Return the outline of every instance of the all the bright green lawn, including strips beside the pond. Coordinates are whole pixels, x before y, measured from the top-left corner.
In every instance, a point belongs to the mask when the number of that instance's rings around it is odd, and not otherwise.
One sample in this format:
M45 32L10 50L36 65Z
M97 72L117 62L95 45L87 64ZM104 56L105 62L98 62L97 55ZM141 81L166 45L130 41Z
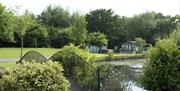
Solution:
M46 57L52 56L54 53L58 52L60 49L55 48L24 48L23 54L30 50L35 50L42 53ZM20 56L20 48L0 48L0 59L18 59ZM103 59L108 57L108 54L97 54L92 53L96 59ZM127 57L140 54L113 54L113 57ZM0 62L0 67L9 67L15 65L15 62Z

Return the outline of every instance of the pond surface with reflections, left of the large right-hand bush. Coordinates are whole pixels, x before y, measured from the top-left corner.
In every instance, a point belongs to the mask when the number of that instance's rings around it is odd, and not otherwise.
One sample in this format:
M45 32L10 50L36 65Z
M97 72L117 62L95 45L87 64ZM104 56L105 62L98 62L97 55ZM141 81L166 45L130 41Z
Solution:
M101 83L101 91L146 91L135 84L135 77L141 73L144 60L136 61L136 63L126 62L126 64L117 62L105 63L113 63L116 65L115 68L111 69L108 75L104 77ZM102 64L104 63L100 63L99 65Z

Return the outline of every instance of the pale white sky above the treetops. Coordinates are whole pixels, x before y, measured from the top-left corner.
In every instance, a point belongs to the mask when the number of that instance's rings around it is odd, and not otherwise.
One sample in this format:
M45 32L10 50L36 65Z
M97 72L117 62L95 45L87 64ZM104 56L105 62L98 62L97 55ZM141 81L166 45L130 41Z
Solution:
M48 5L60 5L70 12L79 11L86 14L91 10L105 8L112 9L120 16L133 16L140 13L155 11L164 15L180 15L180 0L0 0L7 8L21 6L35 15Z

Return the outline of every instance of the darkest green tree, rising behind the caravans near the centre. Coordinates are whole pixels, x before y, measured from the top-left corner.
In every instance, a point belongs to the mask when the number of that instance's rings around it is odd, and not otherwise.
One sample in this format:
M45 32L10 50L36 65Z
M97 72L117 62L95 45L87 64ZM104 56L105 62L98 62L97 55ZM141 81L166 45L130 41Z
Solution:
M101 32L109 39L109 48L125 40L123 19L115 15L111 9L97 9L86 14L87 30L89 32Z

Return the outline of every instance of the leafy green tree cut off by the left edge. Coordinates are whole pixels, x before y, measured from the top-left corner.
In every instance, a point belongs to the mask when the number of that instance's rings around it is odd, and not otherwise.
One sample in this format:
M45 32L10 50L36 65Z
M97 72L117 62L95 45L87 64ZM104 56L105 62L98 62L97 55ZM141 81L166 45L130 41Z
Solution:
M0 3L0 43L13 41L13 13Z

